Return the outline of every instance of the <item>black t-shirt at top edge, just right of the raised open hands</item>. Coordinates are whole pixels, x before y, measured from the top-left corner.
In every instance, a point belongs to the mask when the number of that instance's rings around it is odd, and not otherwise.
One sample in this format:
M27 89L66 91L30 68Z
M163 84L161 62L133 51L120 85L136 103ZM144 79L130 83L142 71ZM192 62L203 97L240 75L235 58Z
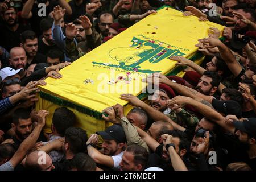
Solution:
M75 20L76 18L79 18L79 16L85 15L86 13L85 6L86 6L86 3L88 3L89 1L84 0L81 5L77 5L75 2L76 2L75 0L68 2L69 6L72 9L72 14L71 15L65 14L65 23L73 22L73 20Z

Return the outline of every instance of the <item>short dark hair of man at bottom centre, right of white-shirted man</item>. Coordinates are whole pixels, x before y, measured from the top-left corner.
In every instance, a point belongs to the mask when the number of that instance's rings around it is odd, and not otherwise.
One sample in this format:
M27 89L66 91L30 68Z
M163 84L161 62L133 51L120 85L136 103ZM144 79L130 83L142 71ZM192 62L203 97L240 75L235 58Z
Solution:
M134 155L134 164L142 165L142 170L145 168L148 160L148 152L146 148L139 146L137 144L131 144L126 148L127 152L131 152Z

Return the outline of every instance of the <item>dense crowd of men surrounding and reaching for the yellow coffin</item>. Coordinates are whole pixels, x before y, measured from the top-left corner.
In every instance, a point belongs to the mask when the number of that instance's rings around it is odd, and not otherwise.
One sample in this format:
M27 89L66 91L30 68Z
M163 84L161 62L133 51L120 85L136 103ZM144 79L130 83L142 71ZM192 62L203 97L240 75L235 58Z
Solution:
M88 135L60 106L44 133L36 85L164 5L225 26L195 45L203 63L172 56L184 77L149 75L149 104L121 94L134 107L104 109L105 131ZM255 171L255 10L256 0L1 0L0 171Z

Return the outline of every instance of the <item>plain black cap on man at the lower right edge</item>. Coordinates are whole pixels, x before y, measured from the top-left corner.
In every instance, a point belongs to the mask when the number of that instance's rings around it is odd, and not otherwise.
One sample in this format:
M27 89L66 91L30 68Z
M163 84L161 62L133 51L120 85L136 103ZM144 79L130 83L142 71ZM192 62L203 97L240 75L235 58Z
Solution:
M256 139L256 118L247 118L244 121L233 121L236 129L243 131Z

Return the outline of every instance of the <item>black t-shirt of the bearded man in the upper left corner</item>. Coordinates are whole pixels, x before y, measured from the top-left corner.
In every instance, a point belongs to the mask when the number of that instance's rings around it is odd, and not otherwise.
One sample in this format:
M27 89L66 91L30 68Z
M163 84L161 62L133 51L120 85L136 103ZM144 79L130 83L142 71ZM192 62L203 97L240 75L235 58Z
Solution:
M23 24L19 24L16 31L11 31L7 26L0 25L0 45L4 47L8 52L13 47L20 46L20 34L22 32L30 30L30 27Z

